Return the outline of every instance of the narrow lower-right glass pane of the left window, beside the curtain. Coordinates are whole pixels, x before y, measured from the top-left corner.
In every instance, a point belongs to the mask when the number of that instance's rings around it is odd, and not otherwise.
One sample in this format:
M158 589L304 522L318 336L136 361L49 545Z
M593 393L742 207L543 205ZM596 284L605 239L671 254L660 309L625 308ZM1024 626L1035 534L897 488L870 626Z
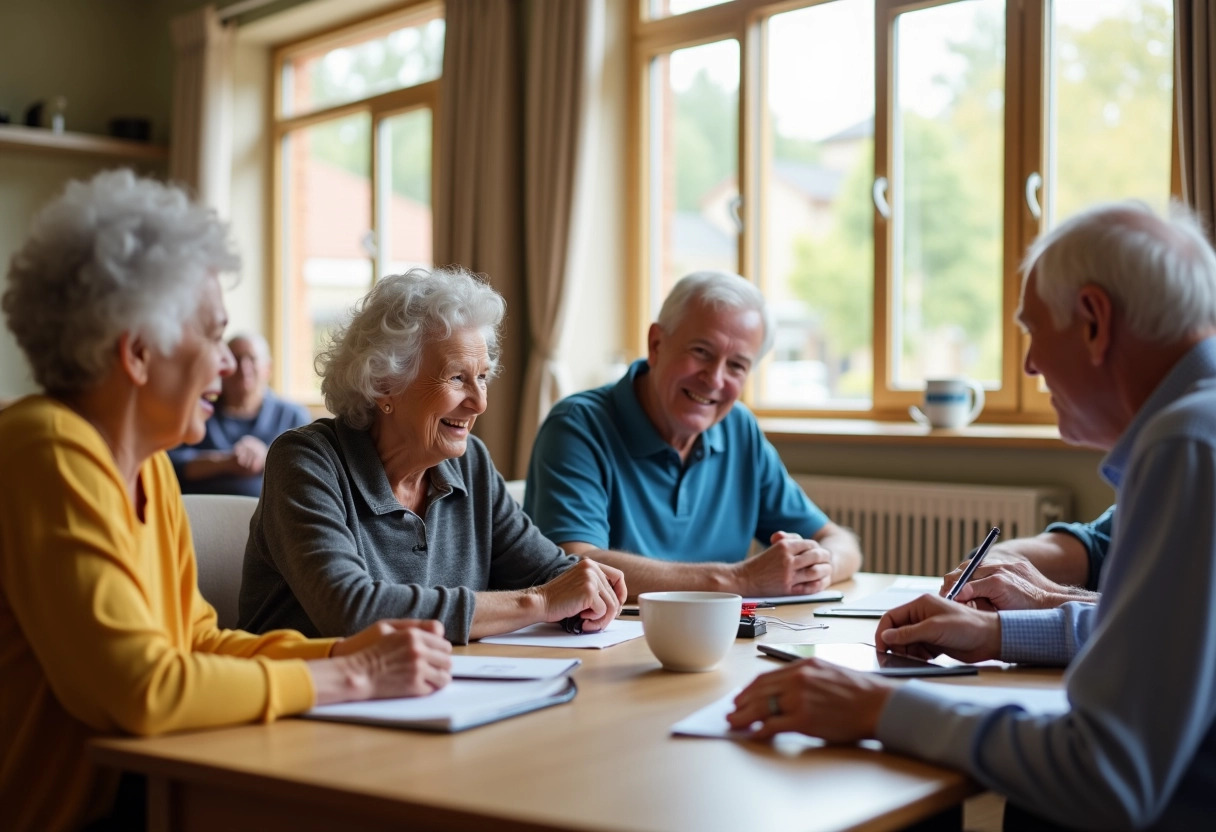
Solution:
M381 122L379 274L432 265L430 111Z

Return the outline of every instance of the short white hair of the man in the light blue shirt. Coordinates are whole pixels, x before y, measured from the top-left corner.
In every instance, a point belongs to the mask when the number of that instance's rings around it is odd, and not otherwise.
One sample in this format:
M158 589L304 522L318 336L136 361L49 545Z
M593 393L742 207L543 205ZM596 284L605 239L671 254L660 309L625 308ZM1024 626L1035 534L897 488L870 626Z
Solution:
M1128 328L1171 343L1216 328L1216 252L1182 204L1158 217L1143 202L1094 206L1036 240L1023 262L1055 328L1073 320L1082 286L1104 288Z

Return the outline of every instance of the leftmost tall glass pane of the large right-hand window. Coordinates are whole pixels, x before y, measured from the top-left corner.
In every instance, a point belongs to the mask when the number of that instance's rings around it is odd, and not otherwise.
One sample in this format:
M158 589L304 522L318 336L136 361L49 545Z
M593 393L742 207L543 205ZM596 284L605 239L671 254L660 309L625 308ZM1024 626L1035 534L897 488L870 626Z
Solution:
M739 45L651 63L651 280L647 320L689 271L738 271Z

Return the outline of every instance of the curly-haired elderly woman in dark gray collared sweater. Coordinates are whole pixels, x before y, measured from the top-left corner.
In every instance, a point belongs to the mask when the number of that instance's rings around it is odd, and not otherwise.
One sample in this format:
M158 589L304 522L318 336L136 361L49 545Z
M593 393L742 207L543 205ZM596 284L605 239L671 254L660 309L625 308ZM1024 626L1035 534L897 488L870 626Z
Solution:
M621 573L544 538L477 437L505 302L463 269L382 279L317 359L334 418L266 456L241 625L316 636L437 618L465 643L541 622L603 629Z

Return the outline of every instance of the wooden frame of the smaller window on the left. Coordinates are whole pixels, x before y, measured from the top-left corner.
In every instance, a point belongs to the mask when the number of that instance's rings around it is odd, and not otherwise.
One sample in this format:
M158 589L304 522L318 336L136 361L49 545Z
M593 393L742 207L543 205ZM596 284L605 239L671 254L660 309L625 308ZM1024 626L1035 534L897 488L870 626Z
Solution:
M371 120L371 130L368 130L368 140L371 142L368 148L368 158L371 159L371 187L368 189L371 199L370 217L372 218L371 232L375 240L375 253L370 257L370 259L372 262L372 283L375 283L385 272L385 253L389 251L388 246L384 244L384 236L388 232L385 226L385 206L388 202L389 186L385 181L382 181L383 176L381 175L384 148L383 125L388 119L404 113L418 109L428 109L430 112L430 195L432 199L434 199L434 195L438 189L440 154L438 135L443 84L443 78L440 77L435 80L423 81L405 89L371 95L365 99L322 107L297 116L288 116L283 114L283 79L286 77L286 67L291 61L300 55L328 51L331 49L358 44L377 35L387 34L401 27L411 26L420 19L427 19L435 16L441 17L443 13L443 0L413 0L412 2L402 2L400 7L389 13L376 13L371 17L361 18L299 40L282 44L274 50L271 60L272 92L270 103L270 136L272 146L272 173L270 181L272 246L271 276L269 281L271 310L269 339L272 349L276 350L276 354L278 354L280 350L286 349L289 327L289 322L287 320L289 297L288 287L286 286L288 276L285 271L288 257L285 251L287 238L287 219L283 215L283 186L286 179L286 159L283 148L286 146L286 139L291 133L302 128L309 128L353 114L366 113L368 116ZM433 246L434 241L432 240L432 247ZM286 360L277 360L274 364L272 381L275 387L278 389L287 389L288 380L286 367ZM288 390L288 393L294 399L304 400L305 404L321 404L320 394L304 394L298 389Z

